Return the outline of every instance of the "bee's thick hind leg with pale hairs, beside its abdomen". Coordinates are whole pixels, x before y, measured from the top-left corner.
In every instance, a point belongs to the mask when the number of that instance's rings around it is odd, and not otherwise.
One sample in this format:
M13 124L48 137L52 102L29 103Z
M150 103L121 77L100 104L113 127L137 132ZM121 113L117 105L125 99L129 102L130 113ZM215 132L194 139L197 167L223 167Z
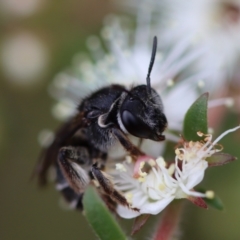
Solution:
M90 178L88 172L81 167L82 161L85 159L81 147L62 147L58 153L58 164L66 178L69 186L77 193L84 192Z

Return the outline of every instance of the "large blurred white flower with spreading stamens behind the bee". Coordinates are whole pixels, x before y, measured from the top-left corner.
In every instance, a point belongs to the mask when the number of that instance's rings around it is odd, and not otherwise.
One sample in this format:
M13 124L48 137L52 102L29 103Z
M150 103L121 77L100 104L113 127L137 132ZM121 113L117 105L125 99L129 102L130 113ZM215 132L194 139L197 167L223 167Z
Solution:
M106 18L102 38L92 36L87 41L93 60L78 54L73 59L72 70L56 76L50 91L60 104L68 99L72 106L77 105L89 92L113 83L126 88L146 83L152 40L158 34L148 20L138 21L135 31L129 25L126 18L112 15ZM182 74L200 54L198 51L186 54L187 49L188 41L183 40L171 51L157 51L151 73L151 85L162 97L169 128L174 130L181 129L184 113L199 95L198 81L207 78L204 71L188 77ZM59 109L64 111L58 113L61 118L69 117L65 113L74 113L74 109L65 111L58 104Z

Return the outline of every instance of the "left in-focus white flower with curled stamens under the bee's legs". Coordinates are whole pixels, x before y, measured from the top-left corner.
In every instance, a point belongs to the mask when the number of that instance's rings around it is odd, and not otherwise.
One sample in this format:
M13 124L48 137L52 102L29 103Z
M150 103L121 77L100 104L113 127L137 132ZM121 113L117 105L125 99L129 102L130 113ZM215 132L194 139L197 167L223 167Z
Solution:
M133 211L122 205L118 205L117 212L123 218L134 218L140 214L158 214L175 197L177 181L171 176L171 167L167 169L163 159L151 160L154 164L151 170L141 172L133 177L133 163L123 163L126 172L117 172L114 178L117 179L115 186L124 192L125 197L133 208L140 211ZM142 162L145 163L145 162ZM141 171L143 164L139 165Z

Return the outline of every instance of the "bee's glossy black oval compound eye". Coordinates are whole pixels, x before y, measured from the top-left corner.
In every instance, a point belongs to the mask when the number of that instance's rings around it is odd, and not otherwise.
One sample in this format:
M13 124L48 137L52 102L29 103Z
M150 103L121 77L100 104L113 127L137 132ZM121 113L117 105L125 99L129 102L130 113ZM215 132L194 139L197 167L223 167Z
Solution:
M127 131L139 138L148 138L151 132L147 124L131 112L124 110L122 113L122 122Z

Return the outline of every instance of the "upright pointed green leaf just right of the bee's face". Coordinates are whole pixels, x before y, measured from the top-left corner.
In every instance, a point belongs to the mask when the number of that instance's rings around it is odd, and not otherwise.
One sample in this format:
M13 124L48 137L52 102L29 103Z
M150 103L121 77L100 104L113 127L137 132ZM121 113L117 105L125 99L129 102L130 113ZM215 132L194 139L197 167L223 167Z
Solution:
M197 132L207 133L208 93L201 95L188 109L183 122L183 136L187 141L199 141Z

